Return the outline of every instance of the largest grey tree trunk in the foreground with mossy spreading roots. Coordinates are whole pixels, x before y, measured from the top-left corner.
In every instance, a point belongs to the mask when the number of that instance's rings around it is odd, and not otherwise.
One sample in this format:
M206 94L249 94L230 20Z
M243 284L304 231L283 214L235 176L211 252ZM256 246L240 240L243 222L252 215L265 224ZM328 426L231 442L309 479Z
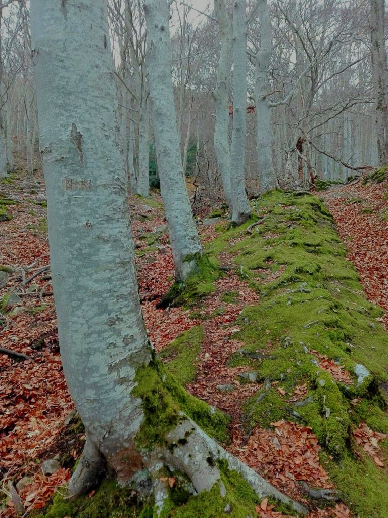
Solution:
M227 503L217 467L222 459L259 496L292 503L182 412L174 396L188 395L157 361L147 338L107 20L106 0L49 6L47 0L31 0L59 342L69 391L86 429L69 496L95 485L108 464L121 483L137 480L143 492L153 489L160 511L168 495L160 477L165 465L184 471L197 493L217 485L214 496L222 509ZM212 410L203 407L211 419Z

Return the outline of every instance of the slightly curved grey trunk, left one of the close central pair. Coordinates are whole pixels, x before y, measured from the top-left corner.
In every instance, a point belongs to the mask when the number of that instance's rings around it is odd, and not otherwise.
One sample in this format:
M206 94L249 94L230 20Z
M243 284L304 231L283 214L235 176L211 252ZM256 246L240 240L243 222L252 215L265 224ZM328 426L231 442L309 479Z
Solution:
M229 207L232 207L229 147L229 95L228 82L232 68L233 28L225 0L215 0L214 12L217 18L220 38L220 54L217 64L217 84L212 95L215 103L216 123L214 128L214 149L221 176L223 192Z

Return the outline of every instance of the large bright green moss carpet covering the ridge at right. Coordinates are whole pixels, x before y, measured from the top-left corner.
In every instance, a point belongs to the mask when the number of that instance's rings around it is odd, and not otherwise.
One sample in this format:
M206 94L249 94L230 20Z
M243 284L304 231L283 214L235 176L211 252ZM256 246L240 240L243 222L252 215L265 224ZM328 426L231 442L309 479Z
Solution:
M237 319L241 330L234 339L245 343L247 354L234 354L229 365L251 365L252 353L258 358L252 369L259 372L257 381L279 381L288 393L272 389L251 397L245 425L268 426L281 418L308 424L339 458L348 451L352 423L363 419L351 400L368 401L375 421L383 412L376 382L388 379L387 335L376 320L383 312L364 296L332 216L316 196L275 192L252 205L257 218L265 215L252 236L244 227L230 228L207 248L212 261L220 252L234 253L248 283L261 294L259 304L245 307ZM361 363L372 376L360 387L354 379L348 388L317 367L311 349L350 373ZM306 381L312 401L294 407L293 387Z

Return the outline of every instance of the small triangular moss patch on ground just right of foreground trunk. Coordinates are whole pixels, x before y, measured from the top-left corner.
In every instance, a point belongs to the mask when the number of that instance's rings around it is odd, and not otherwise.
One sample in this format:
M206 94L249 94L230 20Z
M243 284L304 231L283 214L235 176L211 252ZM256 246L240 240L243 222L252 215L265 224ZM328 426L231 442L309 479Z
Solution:
M203 339L203 325L198 325L188 329L159 353L168 370L183 385L196 378L197 357Z

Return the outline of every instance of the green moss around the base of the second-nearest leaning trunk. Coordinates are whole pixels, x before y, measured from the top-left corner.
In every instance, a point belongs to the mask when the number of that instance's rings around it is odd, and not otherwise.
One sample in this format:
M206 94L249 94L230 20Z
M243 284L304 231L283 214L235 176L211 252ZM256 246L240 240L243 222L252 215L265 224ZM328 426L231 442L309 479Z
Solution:
M215 291L214 282L222 272L206 255L188 255L185 261L195 261L196 268L185 282L175 282L166 295L159 301L157 307L168 306L192 307L198 300Z

